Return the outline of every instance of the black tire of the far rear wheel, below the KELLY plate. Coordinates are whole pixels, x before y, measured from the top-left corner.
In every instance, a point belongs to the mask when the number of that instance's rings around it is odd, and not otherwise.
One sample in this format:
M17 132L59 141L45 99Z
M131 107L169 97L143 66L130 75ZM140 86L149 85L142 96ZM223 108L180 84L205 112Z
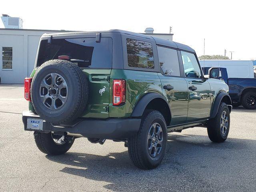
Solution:
M61 155L66 153L74 143L74 139L68 143L56 144L52 139L52 133L34 132L34 139L38 149L48 155Z

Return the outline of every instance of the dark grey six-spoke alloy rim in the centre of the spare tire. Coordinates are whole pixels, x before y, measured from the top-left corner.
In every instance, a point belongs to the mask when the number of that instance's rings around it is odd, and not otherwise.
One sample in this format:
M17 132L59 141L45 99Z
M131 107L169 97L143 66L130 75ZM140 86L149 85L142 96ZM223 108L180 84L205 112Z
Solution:
M46 75L40 84L41 101L50 110L61 108L68 98L66 80L58 73Z

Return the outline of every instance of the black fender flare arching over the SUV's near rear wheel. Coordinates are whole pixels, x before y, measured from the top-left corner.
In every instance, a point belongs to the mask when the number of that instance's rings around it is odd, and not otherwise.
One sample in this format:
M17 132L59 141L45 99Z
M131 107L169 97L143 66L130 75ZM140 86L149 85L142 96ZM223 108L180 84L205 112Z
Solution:
M170 106L166 100L166 98L164 96L162 96L161 94L158 93L148 93L146 95L144 95L142 98L140 98L140 100L137 102L137 104L135 105L133 111L132 111L132 117L140 117L142 116L144 110L146 109L146 106L153 100L156 98L160 98L162 100L164 100L166 102L166 104L168 105L168 109L170 110ZM170 110L170 114L171 114L171 118L172 118L172 113Z

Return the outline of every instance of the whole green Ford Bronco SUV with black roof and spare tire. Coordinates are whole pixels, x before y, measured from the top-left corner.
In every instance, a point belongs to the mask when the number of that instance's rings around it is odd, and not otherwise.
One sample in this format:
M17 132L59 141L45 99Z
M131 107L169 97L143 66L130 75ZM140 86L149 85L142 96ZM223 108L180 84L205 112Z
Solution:
M122 30L44 34L25 79L24 129L43 153L67 152L76 138L122 141L139 168L158 166L167 133L203 126L213 142L230 127L228 86L218 68L203 76L195 51Z

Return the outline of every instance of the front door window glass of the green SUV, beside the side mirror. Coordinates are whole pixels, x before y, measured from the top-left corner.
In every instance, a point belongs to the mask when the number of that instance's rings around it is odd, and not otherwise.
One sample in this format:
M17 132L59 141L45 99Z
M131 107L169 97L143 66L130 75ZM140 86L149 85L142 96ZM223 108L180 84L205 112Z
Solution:
M196 60L196 56L192 53L181 51L182 62L186 77L200 78L200 66Z

